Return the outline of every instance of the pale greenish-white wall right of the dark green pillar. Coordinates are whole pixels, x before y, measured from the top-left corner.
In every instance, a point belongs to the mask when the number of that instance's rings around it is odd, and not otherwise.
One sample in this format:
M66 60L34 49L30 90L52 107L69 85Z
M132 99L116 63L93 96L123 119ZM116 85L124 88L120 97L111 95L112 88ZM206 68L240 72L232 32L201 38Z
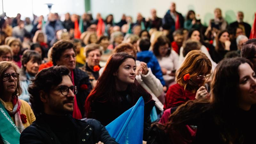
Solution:
M176 10L183 16L188 10L194 10L206 25L213 18L216 7L222 10L222 15L229 23L236 20L237 11L243 11L244 21L252 25L254 12L256 12L256 0L91 0L91 11L94 17L98 12L103 17L112 13L115 22L119 21L121 15L125 13L131 15L135 21L138 12L148 18L152 8L156 8L159 17L164 17L171 2L176 3Z

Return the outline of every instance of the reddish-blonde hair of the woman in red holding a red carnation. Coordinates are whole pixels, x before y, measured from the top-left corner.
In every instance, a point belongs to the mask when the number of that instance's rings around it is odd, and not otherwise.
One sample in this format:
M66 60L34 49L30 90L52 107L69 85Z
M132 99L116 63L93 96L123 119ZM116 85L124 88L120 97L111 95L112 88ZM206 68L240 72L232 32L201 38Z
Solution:
M206 74L211 74L212 70L212 63L209 58L199 50L193 50L188 52L187 56L185 57L184 62L181 64L180 68L176 73L176 81L178 84L184 86L184 89L189 89L192 92L196 92L198 87L190 87L188 88L187 82L183 80L183 76L189 74L190 77L198 76L204 70L204 68L208 68ZM199 84L203 86L203 84Z

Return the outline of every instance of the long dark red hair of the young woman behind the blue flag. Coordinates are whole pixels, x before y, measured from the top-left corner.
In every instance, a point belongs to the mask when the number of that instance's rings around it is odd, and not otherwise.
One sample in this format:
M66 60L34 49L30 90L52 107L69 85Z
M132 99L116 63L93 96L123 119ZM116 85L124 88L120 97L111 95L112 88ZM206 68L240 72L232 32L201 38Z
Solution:
M119 102L116 90L116 76L114 76L114 73L116 73L119 66L129 58L133 59L135 62L135 58L133 56L124 52L118 52L109 58L102 75L98 79L96 87L91 91L85 101L87 117L90 117L91 103L93 101L99 101L102 103L111 102L115 104ZM129 94L133 104L137 102L140 96L143 96L145 103L151 99L151 95L138 83L136 79L133 84L129 85L129 87Z

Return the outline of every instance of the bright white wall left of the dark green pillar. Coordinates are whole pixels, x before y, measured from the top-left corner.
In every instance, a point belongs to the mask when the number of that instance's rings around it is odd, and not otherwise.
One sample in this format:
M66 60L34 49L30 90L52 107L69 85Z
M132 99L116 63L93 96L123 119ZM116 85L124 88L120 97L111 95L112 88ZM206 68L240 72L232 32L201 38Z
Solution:
M0 2L2 6L2 0ZM3 0L3 3L4 12L7 16L15 17L17 13L20 13L21 19L25 19L25 17L33 18L32 8L35 15L46 16L49 13L46 3L54 4L51 12L58 12L60 15L66 12L81 15L85 12L84 0ZM1 6L0 13L2 13Z

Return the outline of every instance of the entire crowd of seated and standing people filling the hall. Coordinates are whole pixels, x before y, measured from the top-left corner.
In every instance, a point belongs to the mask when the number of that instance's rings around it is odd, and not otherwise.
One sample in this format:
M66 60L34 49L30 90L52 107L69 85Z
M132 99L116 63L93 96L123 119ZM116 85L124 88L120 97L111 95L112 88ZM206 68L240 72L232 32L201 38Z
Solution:
M64 21L58 13L1 15L0 110L17 129L0 129L0 144L12 136L20 143L117 143L105 126L140 96L143 144L256 143L256 37L249 39L244 13L228 24L215 8L204 26L173 2L162 18L149 12L119 22L100 13L66 13Z

